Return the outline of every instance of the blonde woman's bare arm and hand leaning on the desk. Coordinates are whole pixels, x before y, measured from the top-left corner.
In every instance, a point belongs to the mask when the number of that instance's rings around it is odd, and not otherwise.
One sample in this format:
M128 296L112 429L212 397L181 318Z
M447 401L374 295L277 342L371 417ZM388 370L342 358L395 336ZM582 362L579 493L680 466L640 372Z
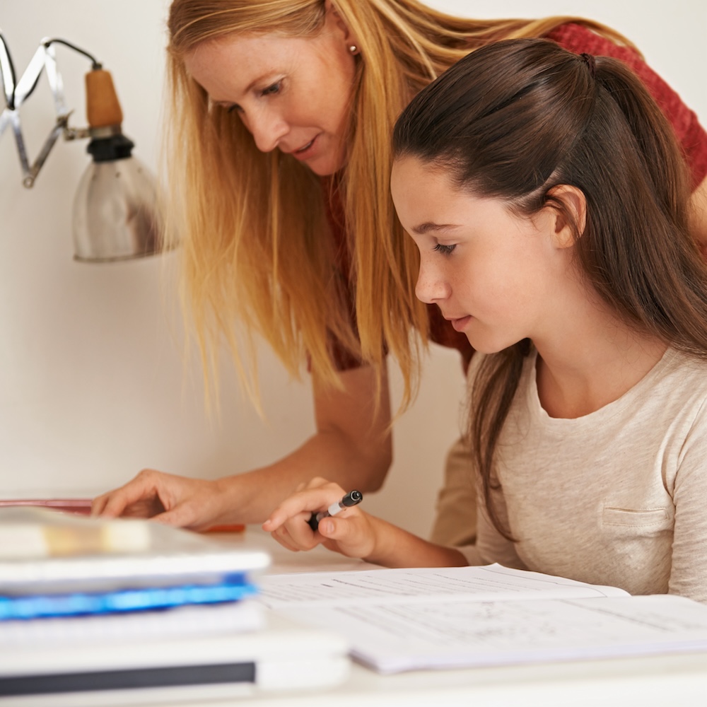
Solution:
M342 390L315 382L317 431L274 464L216 481L144 469L125 486L95 498L93 514L155 517L169 525L204 530L222 523L263 522L312 477L326 475L361 491L379 489L392 461L387 375L382 374L378 409L371 368L346 370L341 382Z

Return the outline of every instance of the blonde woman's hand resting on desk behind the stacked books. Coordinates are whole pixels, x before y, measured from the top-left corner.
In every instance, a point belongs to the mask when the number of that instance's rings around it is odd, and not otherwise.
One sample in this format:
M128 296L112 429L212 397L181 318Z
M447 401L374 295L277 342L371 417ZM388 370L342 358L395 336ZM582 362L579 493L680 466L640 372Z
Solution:
M223 513L220 484L143 469L119 489L94 498L91 515L154 518L166 525L206 530Z

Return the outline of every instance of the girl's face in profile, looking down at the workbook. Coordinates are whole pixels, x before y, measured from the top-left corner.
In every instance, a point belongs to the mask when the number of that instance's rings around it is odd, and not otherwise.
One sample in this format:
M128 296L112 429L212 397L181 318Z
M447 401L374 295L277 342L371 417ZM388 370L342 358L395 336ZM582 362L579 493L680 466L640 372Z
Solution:
M420 249L416 295L438 305L474 349L493 353L551 333L568 249L555 245L549 209L516 216L501 199L460 192L442 170L414 157L395 162L391 190Z

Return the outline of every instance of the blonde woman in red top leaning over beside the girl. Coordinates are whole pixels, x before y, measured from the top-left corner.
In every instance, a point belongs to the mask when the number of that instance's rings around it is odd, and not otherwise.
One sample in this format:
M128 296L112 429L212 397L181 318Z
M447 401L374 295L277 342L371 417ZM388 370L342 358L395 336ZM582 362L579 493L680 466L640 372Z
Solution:
M707 192L707 136L694 114L625 40L591 21L473 21L415 0L175 0L168 24L168 233L182 240L185 305L205 367L225 339L248 385L241 351L254 335L294 375L306 356L317 431L284 459L218 481L146 470L97 498L94 513L159 513L198 529L262 522L317 475L380 487L391 461L386 355L402 370L404 407L427 341L459 349L464 367L472 354L437 308L416 300L418 256L388 188L395 118L470 51L543 35L625 57L662 100L696 193ZM441 518L462 505L456 483Z

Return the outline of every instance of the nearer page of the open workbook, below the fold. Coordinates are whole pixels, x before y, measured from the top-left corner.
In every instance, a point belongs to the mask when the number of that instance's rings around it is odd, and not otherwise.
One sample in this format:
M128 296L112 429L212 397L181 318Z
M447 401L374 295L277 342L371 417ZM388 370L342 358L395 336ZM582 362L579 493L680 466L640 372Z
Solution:
M707 649L707 607L669 595L287 609L379 672Z

